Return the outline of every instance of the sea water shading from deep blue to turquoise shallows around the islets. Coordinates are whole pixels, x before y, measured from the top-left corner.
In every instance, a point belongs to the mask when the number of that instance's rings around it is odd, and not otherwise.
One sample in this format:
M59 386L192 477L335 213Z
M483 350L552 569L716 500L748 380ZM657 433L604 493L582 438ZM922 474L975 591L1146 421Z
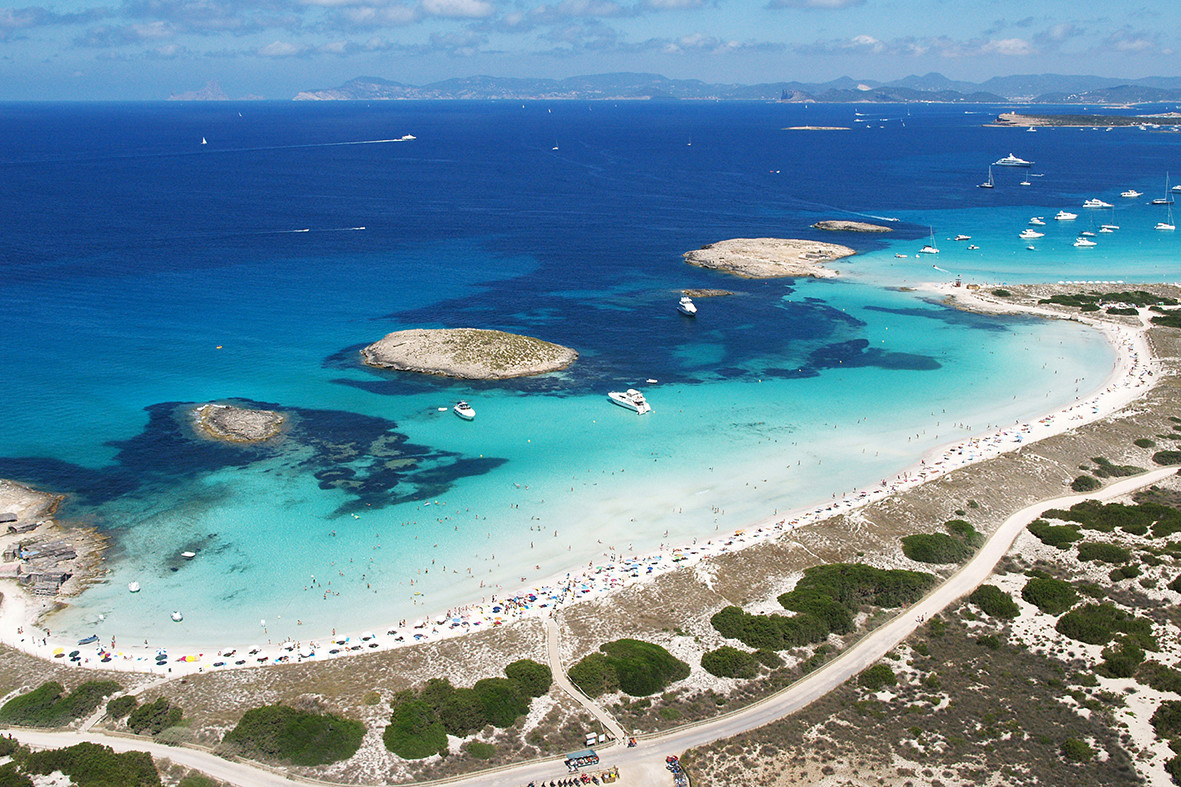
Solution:
M67 495L65 518L112 536L105 581L54 629L221 643L263 619L272 638L378 626L740 528L1098 388L1114 356L1094 332L899 286L1181 279L1175 234L1153 230L1164 209L1146 204L1181 180L1181 135L984 128L998 111L0 105L0 477ZM1010 152L1035 165L976 188ZM1051 220L1063 208L1070 226ZM1030 251L1017 233L1035 215ZM857 217L899 221L810 228ZM1101 223L1121 229L1072 247ZM681 260L761 236L859 255L826 281ZM940 255L918 259L932 236ZM687 319L684 287L736 294ZM479 384L359 365L360 346L419 326L581 358ZM627 385L651 416L607 402ZM441 411L459 398L474 422ZM275 445L213 444L187 416L208 401L294 425Z

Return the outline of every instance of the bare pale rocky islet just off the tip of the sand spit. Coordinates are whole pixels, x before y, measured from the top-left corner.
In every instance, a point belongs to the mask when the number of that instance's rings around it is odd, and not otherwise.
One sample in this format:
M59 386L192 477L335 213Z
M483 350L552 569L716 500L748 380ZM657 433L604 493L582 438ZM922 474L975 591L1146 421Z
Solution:
M831 279L823 262L855 254L848 246L781 238L736 238L685 253L685 261L745 279L813 277Z

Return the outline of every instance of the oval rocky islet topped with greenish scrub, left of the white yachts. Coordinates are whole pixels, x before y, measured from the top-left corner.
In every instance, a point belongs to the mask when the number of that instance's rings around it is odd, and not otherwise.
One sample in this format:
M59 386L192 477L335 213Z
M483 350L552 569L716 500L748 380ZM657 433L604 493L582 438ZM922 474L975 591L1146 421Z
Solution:
M569 347L484 329L412 329L374 342L361 356L370 366L461 379L508 379L566 369Z

